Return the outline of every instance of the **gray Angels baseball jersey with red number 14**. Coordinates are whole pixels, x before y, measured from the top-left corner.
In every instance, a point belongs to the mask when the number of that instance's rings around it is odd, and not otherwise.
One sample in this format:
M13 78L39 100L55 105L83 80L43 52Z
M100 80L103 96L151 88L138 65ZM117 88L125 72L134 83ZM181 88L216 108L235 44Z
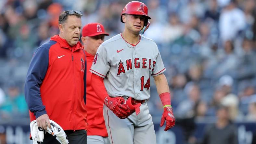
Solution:
M90 71L104 78L111 97L148 99L150 77L166 70L156 43L143 35L139 37L139 42L131 45L118 34L103 42L96 52Z

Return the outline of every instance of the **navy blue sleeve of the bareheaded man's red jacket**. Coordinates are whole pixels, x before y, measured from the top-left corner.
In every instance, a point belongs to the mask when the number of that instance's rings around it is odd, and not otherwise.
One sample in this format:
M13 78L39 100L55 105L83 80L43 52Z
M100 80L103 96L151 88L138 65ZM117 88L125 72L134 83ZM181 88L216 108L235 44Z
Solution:
M25 99L29 110L36 118L46 114L40 93L40 86L45 78L49 62L49 48L39 47L29 65L25 81Z

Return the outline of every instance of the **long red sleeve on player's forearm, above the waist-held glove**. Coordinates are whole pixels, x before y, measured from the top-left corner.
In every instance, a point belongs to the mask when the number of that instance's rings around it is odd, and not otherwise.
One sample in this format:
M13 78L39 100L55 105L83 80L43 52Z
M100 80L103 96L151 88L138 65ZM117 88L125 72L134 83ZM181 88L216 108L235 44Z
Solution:
M103 78L92 73L91 86L95 91L96 95L104 102L105 98L108 97L107 90L103 83Z

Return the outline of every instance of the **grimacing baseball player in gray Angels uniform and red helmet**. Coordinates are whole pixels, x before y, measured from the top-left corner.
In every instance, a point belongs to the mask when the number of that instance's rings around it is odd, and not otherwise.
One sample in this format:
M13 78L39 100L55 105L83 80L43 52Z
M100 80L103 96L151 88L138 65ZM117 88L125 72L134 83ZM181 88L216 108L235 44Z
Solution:
M122 10L125 28L103 42L95 55L90 71L92 87L101 98L103 116L111 144L156 144L156 135L149 114L150 77L153 76L163 104L160 126L165 131L175 124L166 70L156 43L139 34L147 26L147 6L129 2Z

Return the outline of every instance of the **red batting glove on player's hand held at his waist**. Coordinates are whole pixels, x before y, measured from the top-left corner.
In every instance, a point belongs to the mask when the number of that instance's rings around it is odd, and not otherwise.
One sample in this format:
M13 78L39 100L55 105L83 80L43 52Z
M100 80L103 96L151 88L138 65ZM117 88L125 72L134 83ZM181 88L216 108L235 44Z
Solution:
M122 97L106 97L104 100L104 104L119 118L125 119L127 118L127 107L125 107L122 103L124 99Z

